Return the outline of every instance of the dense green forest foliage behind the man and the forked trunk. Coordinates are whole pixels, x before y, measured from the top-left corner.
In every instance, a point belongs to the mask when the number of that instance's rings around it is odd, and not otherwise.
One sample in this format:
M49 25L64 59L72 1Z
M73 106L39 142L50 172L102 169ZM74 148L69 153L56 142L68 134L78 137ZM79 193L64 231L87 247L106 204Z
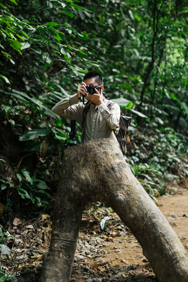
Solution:
M132 173L156 204L173 195L188 177L188 1L1 0L0 10L1 228L13 214L53 214L70 121L52 107L90 70L132 117Z

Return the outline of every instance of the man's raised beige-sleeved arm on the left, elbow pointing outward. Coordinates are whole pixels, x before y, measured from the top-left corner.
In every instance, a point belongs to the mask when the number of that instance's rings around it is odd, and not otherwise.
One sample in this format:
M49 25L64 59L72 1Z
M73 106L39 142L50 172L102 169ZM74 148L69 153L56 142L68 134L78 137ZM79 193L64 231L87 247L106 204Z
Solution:
M63 118L76 120L80 126L82 126L82 111L83 111L83 104L78 103L79 99L77 94L74 94L70 97L67 97L60 102L58 102L52 109L54 114L58 114ZM75 103L78 103L74 105ZM70 114L70 106L71 107L71 114Z

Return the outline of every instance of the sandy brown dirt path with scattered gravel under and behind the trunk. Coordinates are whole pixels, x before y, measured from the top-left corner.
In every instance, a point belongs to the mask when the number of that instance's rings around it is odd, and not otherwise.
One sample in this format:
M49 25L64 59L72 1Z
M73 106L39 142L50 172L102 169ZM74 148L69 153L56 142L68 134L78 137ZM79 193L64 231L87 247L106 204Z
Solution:
M188 245L186 246L186 244L188 244L188 191L184 189L182 191L178 191L176 195L161 197L158 199L158 203L159 209L162 211L163 215L165 215L188 252ZM151 265L142 253L140 244L131 233L127 233L126 235L120 237L114 237L111 242L104 240L102 239L102 242L99 243L96 238L98 244L95 244L95 247L106 251L106 254L104 254L104 252L102 254L101 252L101 257L110 263L109 266L114 267L117 271L120 271L120 268L122 267L131 267L133 264L137 265L136 270L131 270L132 268L127 270L127 273L125 273L127 275L125 275L124 281L129 281L126 280L128 276L132 277L132 281L137 281L136 278L134 280L133 277L135 274L138 275L138 273L141 273L142 277L145 276L146 280L151 279L151 281L157 281L155 274L152 272ZM79 264L83 265L83 267L87 265L97 274L103 275L105 274L104 271L108 270L105 270L105 266L102 268L98 266L99 258L99 255L95 258L89 258L86 256L85 263L80 262ZM82 277L76 277L75 273L72 276L72 278L75 279L73 281L78 282L82 281L80 280Z

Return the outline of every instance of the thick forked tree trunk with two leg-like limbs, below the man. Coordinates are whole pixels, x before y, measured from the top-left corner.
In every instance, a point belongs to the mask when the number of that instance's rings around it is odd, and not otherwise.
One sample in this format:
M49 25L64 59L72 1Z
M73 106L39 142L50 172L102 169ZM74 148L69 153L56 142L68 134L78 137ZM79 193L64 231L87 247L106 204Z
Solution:
M108 204L130 228L158 282L188 281L182 243L132 174L116 140L108 138L65 150L41 282L70 281L82 212L94 201Z

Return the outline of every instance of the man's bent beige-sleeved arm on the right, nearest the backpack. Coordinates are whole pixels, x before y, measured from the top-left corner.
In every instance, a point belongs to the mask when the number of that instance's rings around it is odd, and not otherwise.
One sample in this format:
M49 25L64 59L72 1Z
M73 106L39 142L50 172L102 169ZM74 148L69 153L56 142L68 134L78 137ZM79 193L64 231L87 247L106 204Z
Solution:
M112 129L116 128L120 122L120 106L117 103L114 103L111 110L109 110L105 103L101 103L98 106L98 109L109 127Z

